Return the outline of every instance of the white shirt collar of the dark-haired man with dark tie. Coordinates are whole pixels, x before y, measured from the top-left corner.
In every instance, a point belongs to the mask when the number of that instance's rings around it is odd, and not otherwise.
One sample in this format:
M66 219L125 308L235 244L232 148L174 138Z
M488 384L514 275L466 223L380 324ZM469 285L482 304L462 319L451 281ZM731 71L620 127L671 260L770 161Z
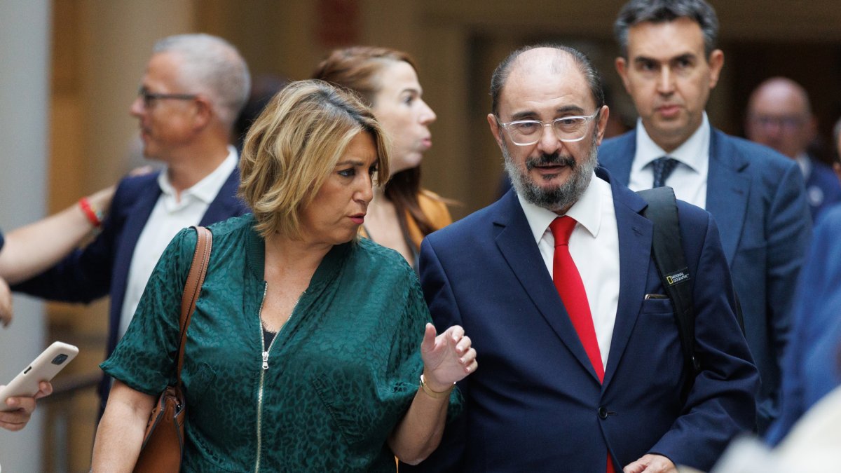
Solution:
M637 120L637 154L634 157L631 172L641 171L659 157L674 157L696 173L704 174L709 167L710 157L710 120L703 112L701 126L695 133L672 152L663 151L643 126L643 120Z

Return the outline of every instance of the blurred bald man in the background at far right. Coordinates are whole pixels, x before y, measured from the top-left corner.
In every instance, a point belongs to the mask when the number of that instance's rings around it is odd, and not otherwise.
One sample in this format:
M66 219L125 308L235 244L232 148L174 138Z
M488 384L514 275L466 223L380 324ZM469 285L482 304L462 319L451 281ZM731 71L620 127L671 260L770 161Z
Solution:
M841 202L841 183L833 169L807 152L817 136L817 120L800 84L785 77L771 77L759 84L748 101L744 130L748 140L770 146L797 162L806 181L812 220Z

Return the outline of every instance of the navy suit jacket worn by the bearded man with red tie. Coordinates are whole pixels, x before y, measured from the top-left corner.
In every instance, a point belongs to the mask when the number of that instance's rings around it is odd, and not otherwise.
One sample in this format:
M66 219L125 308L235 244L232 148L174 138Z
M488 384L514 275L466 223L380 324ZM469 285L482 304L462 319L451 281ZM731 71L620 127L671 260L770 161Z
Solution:
M610 182L598 169L597 175ZM687 399L684 357L651 258L643 199L611 183L620 291L604 385L595 375L513 191L426 237L421 284L439 331L464 327L479 369L459 383L465 411L447 425L423 471L604 473L648 452L708 470L754 424L759 380L733 314L715 223L679 203L695 279L701 364ZM404 467L401 465L401 471Z

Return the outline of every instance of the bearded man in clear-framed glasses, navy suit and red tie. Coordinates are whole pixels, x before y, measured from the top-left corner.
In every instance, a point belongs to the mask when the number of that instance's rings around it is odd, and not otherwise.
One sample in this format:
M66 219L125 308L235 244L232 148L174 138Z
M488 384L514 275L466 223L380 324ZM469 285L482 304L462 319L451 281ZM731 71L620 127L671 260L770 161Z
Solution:
M427 237L420 264L436 326L461 324L483 369L459 383L465 412L415 468L708 470L754 425L759 384L715 223L679 202L702 367L682 396L691 374L646 202L597 166L598 73L577 50L526 47L497 67L491 96L513 189Z

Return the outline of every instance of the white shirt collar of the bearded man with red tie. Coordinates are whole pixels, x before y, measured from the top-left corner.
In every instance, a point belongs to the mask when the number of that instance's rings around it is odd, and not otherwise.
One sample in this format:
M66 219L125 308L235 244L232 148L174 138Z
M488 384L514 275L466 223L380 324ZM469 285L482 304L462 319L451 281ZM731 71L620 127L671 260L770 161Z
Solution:
M610 185L593 173L590 177L590 184L587 185L587 189L584 189L584 194L581 194L578 201L572 207L569 207L567 213L564 214L574 218L593 237L598 235L601 224L602 200L601 193L598 189L600 183ZM534 237L535 242L539 243L543 234L548 231L549 224L558 218L558 214L552 210L528 202L520 194L517 194L517 199L520 201L523 213L526 214L526 221L528 221L528 225L532 230L532 237Z

